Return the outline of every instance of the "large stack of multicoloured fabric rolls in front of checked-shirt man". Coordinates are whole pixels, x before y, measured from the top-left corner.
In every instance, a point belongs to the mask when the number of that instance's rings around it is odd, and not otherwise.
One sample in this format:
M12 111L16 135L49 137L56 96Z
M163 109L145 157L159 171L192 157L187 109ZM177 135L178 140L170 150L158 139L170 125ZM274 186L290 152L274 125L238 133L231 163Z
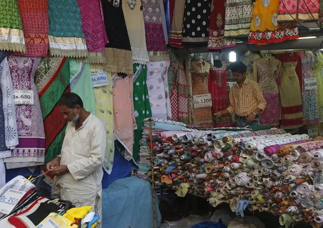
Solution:
M149 120L137 172L148 179ZM161 122L163 129L156 124ZM323 223L323 141L283 129L201 131L159 119L153 120L152 136L155 185L178 196L205 197L214 207L229 203L242 216L247 208L280 216L287 226L301 220Z

